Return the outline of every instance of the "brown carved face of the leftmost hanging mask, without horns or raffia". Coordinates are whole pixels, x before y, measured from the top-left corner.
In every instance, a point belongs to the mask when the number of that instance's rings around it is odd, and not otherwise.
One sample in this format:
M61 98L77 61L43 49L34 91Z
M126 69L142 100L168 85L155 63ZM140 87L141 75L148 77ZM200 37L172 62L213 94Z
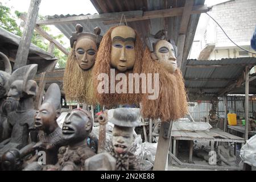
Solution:
M98 49L96 43L89 38L83 37L77 40L75 55L79 67L88 70L93 67Z

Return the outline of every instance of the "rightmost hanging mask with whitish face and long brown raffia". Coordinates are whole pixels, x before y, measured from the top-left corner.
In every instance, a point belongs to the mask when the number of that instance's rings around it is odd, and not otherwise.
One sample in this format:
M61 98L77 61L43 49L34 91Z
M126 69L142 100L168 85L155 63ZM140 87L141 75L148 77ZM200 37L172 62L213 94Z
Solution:
M159 74L159 97L148 100L148 94L143 94L142 115L144 118L160 118L163 122L182 118L187 114L188 104L184 79L177 68L176 47L160 39L159 34L148 39L147 44L142 72Z

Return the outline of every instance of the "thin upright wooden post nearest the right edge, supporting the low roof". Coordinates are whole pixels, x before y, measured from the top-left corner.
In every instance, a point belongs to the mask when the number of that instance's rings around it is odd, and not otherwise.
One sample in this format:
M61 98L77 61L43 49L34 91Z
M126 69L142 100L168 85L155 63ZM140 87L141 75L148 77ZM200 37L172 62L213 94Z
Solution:
M248 139L249 126L249 68L245 67L245 140Z

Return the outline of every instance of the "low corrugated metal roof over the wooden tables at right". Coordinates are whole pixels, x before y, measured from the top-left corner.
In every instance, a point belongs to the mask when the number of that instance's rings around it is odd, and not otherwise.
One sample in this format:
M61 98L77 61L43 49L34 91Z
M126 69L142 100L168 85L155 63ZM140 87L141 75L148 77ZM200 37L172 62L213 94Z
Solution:
M218 66L210 67L210 65ZM256 58L239 57L221 60L188 60L184 73L185 87L191 94L217 95L221 90L233 84L242 76L246 65L256 65ZM244 94L244 85L240 88L233 89L230 93ZM256 94L256 80L250 82L249 93Z

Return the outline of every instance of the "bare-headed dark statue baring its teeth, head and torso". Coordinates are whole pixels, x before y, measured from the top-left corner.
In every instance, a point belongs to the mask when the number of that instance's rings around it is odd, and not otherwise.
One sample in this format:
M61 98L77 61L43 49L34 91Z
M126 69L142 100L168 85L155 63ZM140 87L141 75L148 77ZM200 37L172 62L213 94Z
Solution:
M75 109L63 123L63 137L68 142L67 150L60 148L60 171L83 171L86 159L95 155L88 147L87 138L92 131L92 115L88 111Z

